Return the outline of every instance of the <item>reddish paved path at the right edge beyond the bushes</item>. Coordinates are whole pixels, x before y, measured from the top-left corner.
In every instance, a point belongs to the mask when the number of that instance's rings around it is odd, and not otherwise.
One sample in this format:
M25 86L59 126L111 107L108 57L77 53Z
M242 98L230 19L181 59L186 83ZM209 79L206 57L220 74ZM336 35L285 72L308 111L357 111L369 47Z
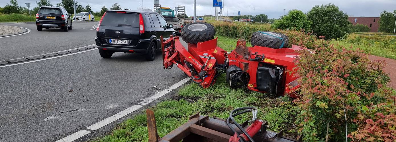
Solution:
M389 59L389 58L384 58L384 57L379 57L379 56L374 56L374 55L369 55L370 60L385 60L386 66L384 68L384 71L388 73L388 76L390 77L390 82L388 83L388 86L396 89L396 60L394 59Z

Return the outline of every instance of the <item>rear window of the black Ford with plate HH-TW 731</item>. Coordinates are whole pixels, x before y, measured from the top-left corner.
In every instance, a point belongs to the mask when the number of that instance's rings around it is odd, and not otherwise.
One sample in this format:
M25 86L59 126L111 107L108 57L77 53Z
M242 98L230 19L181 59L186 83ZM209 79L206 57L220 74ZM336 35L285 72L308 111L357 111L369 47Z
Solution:
M100 25L139 27L139 15L134 13L106 13Z

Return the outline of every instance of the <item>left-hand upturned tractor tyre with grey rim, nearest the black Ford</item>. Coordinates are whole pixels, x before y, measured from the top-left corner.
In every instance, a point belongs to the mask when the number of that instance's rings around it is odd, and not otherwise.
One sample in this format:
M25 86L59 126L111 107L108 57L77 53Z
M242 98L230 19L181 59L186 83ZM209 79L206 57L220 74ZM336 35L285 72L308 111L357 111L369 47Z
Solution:
M193 22L181 29L181 37L186 43L198 44L215 37L215 27L204 22Z

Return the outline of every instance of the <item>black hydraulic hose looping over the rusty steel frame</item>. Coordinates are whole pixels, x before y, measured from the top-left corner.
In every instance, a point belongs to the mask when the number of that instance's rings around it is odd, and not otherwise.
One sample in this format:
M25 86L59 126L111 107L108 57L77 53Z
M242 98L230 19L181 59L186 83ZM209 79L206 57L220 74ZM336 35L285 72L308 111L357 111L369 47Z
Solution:
M248 109L248 110L247 110L247 109ZM250 112L251 109L257 109L257 108L255 108L255 107L243 107L243 108L237 108L237 109L235 109L235 110L232 110L232 111L230 112L230 117L228 117L226 121L227 121L228 127L231 129L232 132L236 133L236 131L234 130L234 128L232 128L232 126L231 126L231 124L230 124L230 122L229 122L230 120L236 124L236 127L238 127L238 129L240 129L240 130L247 136L247 138L248 138L251 142L254 142L253 138L251 138L251 136L250 136L239 124L238 124L238 122L236 122L236 121L234 120L234 116L238 116L238 115L240 115L240 114L244 114L244 113L246 113L246 112ZM239 110L245 110L245 111L243 111L243 112L238 112L238 113L236 113L236 114L233 115L234 112L239 111ZM245 140L242 139L239 135L238 135L238 138L240 138L240 142L244 142L244 141L245 141Z

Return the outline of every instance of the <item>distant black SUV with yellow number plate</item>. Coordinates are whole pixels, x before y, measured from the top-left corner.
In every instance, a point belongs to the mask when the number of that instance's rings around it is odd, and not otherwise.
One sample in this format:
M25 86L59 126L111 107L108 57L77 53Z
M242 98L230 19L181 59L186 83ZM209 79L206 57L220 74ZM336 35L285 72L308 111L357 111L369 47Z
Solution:
M36 14L37 30L43 28L62 28L67 32L72 29L72 20L65 8L42 6Z

